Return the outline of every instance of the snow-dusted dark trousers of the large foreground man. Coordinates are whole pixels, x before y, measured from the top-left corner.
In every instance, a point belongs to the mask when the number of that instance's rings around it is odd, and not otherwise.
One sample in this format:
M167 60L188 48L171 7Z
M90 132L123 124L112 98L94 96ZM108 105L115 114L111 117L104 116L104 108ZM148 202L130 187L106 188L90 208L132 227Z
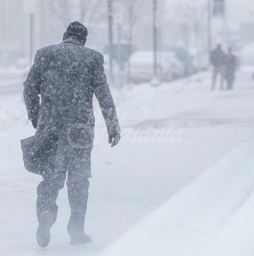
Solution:
M40 222L44 212L53 215L53 223L57 217L56 199L58 191L63 188L66 180L66 172L43 174L43 181L37 187L37 218ZM87 210L89 180L85 172L68 172L68 198L71 207L71 217L68 223L68 232L71 236L84 233L85 214Z

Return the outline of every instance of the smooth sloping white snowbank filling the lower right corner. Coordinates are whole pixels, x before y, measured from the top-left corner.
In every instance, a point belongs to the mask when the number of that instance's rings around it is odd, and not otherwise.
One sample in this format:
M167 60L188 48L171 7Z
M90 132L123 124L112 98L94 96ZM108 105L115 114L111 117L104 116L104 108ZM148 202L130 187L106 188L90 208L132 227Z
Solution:
M230 152L100 255L253 255L253 142Z

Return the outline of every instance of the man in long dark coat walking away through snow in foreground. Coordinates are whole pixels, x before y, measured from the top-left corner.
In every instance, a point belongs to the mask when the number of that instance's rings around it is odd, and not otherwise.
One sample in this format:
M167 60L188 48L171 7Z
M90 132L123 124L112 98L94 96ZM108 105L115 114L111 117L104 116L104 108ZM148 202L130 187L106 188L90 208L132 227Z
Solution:
M91 241L84 231L91 151L94 138L93 95L105 119L108 142L120 140L116 110L103 68L103 56L84 47L87 28L71 23L63 41L39 49L24 82L28 118L34 136L21 141L25 168L42 176L37 188L37 242L50 242L56 220L58 191L68 177L71 217L68 232L72 244ZM40 97L39 97L40 94Z

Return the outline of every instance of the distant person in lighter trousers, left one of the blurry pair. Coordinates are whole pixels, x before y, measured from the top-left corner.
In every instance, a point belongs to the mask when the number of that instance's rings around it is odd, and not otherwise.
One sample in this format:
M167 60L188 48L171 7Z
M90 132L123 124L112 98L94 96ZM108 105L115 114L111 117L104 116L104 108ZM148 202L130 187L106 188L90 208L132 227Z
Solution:
M217 76L220 75L220 88L223 89L223 83L225 78L225 53L221 49L221 45L218 44L216 49L210 55L210 63L213 65L213 81L212 90L215 89Z

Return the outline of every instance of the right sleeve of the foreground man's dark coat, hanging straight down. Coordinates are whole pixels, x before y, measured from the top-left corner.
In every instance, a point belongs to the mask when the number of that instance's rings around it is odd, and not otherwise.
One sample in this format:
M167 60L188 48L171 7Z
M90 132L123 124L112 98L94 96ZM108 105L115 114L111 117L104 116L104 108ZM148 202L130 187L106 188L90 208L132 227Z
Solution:
M98 54L95 60L95 67L93 72L93 91L99 101L108 134L115 135L120 133L120 126L117 119L114 101L104 72L103 63L103 55Z

